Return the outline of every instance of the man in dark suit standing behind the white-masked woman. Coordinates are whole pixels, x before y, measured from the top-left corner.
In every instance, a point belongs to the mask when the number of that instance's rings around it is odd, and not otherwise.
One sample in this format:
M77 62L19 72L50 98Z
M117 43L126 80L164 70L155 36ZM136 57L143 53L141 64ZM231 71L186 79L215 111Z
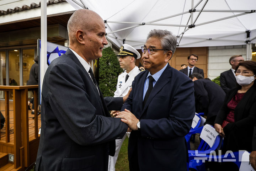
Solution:
M229 64L231 65L231 69L220 74L220 86L225 91L225 93L236 87L235 68L240 62L243 61L244 58L242 55L234 55L230 57Z

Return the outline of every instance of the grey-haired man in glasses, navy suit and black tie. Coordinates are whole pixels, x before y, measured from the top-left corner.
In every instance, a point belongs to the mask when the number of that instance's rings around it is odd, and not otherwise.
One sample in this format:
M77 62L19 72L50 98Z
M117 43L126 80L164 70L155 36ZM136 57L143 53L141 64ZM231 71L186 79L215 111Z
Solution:
M145 71L133 81L132 91L117 118L132 129L128 143L130 171L187 170L184 136L195 114L193 82L168 61L176 36L151 30L142 47Z

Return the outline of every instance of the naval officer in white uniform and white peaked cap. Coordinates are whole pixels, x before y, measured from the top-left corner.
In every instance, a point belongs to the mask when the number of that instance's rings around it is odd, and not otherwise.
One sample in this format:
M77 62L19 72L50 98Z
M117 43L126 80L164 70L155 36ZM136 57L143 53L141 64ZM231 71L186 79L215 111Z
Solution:
M114 97L123 97L127 95L130 88L132 88L134 77L142 71L142 69L139 69L138 66L135 65L136 59L140 58L140 53L132 46L123 44L117 56L119 57L118 61L120 67L123 68L124 71L118 76L117 89L114 92ZM115 114L115 112L116 111L112 111L111 114ZM113 157L109 156L108 158L108 171L115 171L118 153L127 135L129 137L130 133L127 132L122 139L116 139L116 153Z

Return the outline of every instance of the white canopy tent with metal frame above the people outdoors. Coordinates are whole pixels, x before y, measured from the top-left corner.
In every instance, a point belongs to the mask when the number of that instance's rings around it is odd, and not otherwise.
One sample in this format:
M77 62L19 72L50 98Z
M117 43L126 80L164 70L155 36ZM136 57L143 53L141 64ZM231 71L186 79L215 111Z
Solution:
M66 0L106 22L107 38L140 49L150 30L166 29L179 47L228 46L256 42L255 0ZM251 48L250 48L251 49Z

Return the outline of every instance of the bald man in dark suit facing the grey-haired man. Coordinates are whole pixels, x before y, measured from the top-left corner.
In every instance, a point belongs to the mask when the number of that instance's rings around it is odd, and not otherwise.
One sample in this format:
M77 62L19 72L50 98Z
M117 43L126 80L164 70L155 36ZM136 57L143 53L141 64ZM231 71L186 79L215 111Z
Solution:
M107 171L115 139L127 132L127 124L110 117L90 68L108 44L105 33L91 10L70 17L69 49L50 63L43 80L36 171Z

